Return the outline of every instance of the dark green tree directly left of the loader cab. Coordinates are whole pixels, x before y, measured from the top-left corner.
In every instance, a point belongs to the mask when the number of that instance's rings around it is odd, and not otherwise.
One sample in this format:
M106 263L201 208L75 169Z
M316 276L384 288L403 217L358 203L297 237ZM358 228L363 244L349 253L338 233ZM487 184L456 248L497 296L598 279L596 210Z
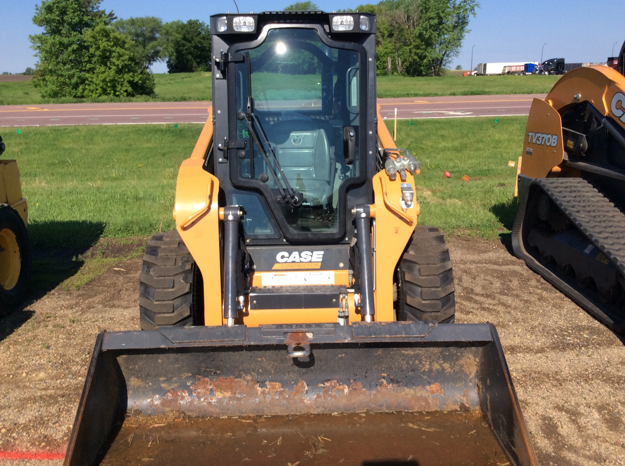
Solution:
M190 73L211 69L211 28L197 19L163 25L163 56L170 73Z

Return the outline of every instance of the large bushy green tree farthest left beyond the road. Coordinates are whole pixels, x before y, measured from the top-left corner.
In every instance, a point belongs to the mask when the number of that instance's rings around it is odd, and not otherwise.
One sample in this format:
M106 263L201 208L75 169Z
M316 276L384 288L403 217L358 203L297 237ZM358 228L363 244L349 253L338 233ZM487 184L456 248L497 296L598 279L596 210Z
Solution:
M131 42L111 26L100 0L44 0L30 36L39 63L32 79L42 97L126 97L154 93L154 77L138 62Z

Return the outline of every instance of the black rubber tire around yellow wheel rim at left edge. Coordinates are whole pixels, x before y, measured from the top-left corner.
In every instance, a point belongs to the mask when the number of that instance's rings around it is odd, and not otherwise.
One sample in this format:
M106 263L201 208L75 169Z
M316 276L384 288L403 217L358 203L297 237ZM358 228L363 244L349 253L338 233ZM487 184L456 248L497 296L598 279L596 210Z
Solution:
M4 289L0 284L0 316L13 311L26 299L31 284L31 245L26 225L17 211L10 206L0 206L0 231L5 229L15 235L20 269L17 281L11 289Z

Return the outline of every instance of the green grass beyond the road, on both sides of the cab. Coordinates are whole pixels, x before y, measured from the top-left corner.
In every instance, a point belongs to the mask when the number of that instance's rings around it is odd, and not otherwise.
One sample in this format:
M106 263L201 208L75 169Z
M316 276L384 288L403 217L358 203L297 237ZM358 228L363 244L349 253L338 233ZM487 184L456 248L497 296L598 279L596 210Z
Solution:
M211 74L206 72L155 74L154 97L96 100L42 99L29 81L0 82L0 105L63 104L75 102L163 102L211 100ZM377 77L377 97L434 97L436 95L546 94L559 76L442 76Z

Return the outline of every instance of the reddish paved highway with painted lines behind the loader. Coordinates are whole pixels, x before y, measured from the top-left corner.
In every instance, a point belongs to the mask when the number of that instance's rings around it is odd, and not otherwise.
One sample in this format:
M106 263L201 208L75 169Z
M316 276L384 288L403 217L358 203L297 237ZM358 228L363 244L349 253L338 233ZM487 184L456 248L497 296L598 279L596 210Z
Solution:
M544 94L377 99L384 119L527 115ZM0 105L0 127L204 123L211 102Z

